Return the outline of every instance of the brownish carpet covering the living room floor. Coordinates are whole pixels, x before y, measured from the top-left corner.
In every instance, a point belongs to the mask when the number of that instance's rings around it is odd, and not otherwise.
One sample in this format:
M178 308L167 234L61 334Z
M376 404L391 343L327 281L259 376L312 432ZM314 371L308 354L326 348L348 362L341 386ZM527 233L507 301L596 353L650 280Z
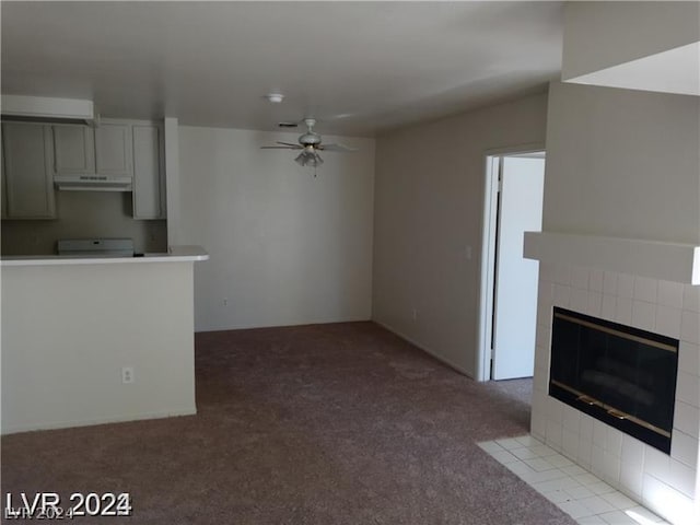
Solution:
M130 492L138 524L571 525L476 446L529 381L478 384L372 323L198 334L194 417L2 438L2 492Z

